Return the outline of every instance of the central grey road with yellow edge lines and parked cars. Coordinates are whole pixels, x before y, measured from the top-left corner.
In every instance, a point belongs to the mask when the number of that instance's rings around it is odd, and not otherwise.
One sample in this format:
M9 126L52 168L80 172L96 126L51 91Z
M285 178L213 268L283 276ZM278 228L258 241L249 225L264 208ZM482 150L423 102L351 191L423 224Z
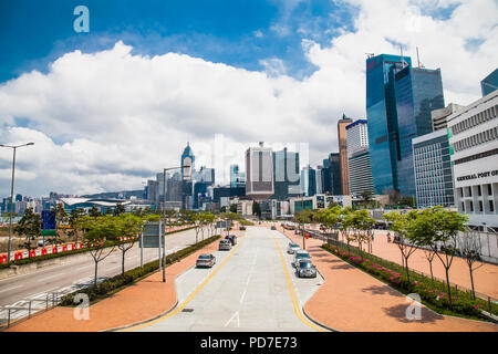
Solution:
M302 313L323 279L299 279L288 243L279 231L249 227L235 248L214 253L214 268L176 279L173 312L125 331L323 331Z

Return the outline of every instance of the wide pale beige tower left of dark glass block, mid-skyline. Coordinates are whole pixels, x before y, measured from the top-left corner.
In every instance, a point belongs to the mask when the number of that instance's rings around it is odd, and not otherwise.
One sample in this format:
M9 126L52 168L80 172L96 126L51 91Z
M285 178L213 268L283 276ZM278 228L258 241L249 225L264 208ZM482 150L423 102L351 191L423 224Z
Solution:
M259 143L246 150L246 195L263 200L273 194L273 152Z

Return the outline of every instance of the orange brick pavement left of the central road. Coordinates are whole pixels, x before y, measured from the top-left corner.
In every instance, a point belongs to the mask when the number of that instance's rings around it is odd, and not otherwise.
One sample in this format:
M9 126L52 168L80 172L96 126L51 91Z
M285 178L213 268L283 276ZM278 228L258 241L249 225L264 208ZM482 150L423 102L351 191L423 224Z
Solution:
M4 332L97 332L115 329L156 317L176 305L175 278L195 264L200 253L212 252L218 242L212 242L181 261L155 272L111 298L90 306L90 320L74 319L73 308L54 308L22 321Z

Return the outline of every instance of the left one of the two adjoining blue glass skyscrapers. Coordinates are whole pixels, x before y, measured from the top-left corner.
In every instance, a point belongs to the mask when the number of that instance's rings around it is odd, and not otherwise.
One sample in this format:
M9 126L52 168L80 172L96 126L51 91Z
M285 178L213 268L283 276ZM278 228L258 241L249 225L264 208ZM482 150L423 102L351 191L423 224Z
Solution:
M404 64L402 64L402 61ZM372 178L376 195L397 187L400 140L394 75L412 65L407 56L381 54L366 60L366 118Z

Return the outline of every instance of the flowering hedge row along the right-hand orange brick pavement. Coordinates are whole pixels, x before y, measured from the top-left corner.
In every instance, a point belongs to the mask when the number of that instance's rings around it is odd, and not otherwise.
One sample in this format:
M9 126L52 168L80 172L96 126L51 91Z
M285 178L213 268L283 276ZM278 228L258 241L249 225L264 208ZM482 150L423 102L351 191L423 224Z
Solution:
M481 313L481 310L489 311L488 303L479 298L473 300L469 291L461 291L453 288L453 305L450 306L448 294L446 293L447 288L440 281L434 280L433 282L430 278L415 272L411 272L411 281L408 281L400 264L386 260L382 260L381 264L377 261L369 259L367 257L370 254L365 252L363 252L363 257L360 257L359 250L351 246L350 251L328 243L324 243L322 248L343 259L347 263L366 271L374 278L402 293L417 293L424 304L438 313L489 321L489 319ZM497 305L491 304L491 313L496 314L497 310Z

